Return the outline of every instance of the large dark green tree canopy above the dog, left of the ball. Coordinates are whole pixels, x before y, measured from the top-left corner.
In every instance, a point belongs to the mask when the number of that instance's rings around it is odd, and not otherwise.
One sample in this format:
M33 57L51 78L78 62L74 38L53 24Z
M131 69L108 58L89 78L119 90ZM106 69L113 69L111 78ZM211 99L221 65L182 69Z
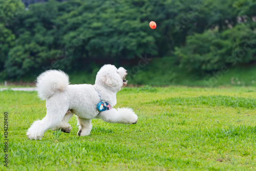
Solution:
M145 53L156 55L159 34L148 29L140 5L125 1L112 7L110 3L49 1L30 5L15 21L18 37L5 63L8 77L45 68L91 69L91 61L98 59L118 62Z

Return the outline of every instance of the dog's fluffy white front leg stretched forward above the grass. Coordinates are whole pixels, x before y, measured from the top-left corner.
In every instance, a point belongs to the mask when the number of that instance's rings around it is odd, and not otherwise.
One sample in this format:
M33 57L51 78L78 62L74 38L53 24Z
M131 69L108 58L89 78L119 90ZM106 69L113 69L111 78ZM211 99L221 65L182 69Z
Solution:
M98 115L105 122L135 124L138 121L138 116L130 108L121 108L100 112Z

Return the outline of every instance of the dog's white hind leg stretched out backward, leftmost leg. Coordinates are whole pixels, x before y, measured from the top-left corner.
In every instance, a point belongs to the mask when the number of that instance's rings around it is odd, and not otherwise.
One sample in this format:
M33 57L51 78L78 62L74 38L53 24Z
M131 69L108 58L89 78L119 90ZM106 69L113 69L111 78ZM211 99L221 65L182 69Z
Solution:
M50 130L60 124L67 111L68 107L63 108L63 105L48 106L46 117L42 120L34 121L28 129L28 138L34 140L41 139L47 130Z

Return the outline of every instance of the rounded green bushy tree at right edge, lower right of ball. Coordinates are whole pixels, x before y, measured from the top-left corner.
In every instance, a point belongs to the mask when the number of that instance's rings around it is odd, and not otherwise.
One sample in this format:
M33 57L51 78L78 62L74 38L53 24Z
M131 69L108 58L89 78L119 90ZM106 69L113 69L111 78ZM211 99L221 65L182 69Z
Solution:
M221 70L223 66L235 66L256 60L256 34L245 24L223 32L207 30L187 37L186 45L176 48L180 65L197 74ZM203 71L203 72L202 72Z

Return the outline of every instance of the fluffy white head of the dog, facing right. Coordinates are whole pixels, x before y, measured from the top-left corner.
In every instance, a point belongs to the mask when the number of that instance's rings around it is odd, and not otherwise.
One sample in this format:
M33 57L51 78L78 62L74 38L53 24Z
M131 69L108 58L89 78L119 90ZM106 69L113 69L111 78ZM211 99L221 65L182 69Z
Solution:
M96 75L95 84L111 87L119 91L122 87L126 86L128 82L125 79L126 75L127 70L122 67L117 69L113 65L104 65Z

